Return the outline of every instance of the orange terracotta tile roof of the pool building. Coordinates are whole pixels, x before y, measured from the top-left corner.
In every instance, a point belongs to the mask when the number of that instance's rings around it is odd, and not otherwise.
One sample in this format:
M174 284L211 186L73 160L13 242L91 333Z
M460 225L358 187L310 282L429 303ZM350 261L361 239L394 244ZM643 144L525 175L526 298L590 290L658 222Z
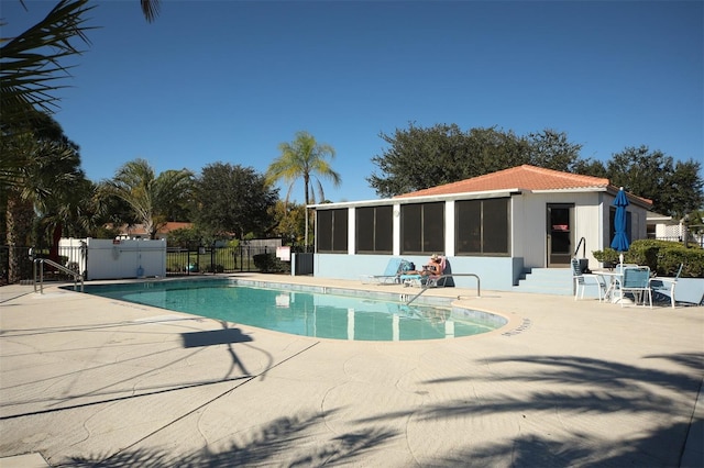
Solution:
M490 190L562 190L581 188L609 187L608 179L578 174L561 172L530 165L512 167L510 169L473 177L443 186L430 187L395 198L442 196L453 193L481 192Z

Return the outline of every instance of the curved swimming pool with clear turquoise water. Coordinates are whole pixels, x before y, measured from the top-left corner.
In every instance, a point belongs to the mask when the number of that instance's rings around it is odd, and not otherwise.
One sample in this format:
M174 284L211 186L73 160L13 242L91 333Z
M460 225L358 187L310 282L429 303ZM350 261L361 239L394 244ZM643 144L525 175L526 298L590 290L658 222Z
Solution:
M86 285L105 298L187 312L302 336L353 341L415 341L477 335L506 324L486 312L406 305L362 296L250 286L228 278Z

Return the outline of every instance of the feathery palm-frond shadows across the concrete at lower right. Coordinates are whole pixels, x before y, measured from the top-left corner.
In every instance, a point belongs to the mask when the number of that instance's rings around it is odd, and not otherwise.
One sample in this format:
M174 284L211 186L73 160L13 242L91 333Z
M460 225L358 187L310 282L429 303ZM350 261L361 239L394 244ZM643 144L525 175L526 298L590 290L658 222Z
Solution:
M536 411L556 411L564 416L598 415L625 412L630 414L662 414L673 424L644 427L642 435L625 444L623 439L594 439L590 434L571 432L564 435L525 435L510 441L496 441L484 446L457 447L451 454L438 454L438 466L493 466L512 460L513 467L550 466L663 466L682 465L684 445L691 427L702 424L694 416L694 402L703 378L704 354L673 354L645 356L644 359L663 359L674 363L681 370L662 370L572 356L515 356L483 359L498 371L501 364L522 363L525 371L497 375L491 381L525 381L530 387L546 385L528 397L495 395L474 400L448 401L414 412L418 419L454 419L497 413L515 414L517 424ZM457 376L426 383L476 381L476 378ZM487 379L488 380L488 379ZM559 383L563 391L549 391ZM469 386L470 387L470 386ZM686 393L686 398L680 398ZM534 413L534 414L531 414ZM396 412L359 421L383 422L408 417L410 413ZM471 439L471 434L468 434ZM701 449L701 447L700 447ZM695 465L703 460L695 460Z

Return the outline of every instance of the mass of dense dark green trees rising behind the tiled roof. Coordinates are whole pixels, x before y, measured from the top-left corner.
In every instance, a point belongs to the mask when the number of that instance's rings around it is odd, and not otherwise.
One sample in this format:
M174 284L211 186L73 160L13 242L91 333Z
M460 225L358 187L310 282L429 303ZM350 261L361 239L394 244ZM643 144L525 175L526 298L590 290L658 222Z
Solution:
M372 161L378 171L367 178L382 197L393 197L530 164L566 172L608 178L612 183L648 198L653 210L683 216L704 205L701 163L675 161L646 146L627 147L603 163L582 158L582 145L554 130L518 136L496 127L462 132L455 124L418 127L380 135L388 147Z

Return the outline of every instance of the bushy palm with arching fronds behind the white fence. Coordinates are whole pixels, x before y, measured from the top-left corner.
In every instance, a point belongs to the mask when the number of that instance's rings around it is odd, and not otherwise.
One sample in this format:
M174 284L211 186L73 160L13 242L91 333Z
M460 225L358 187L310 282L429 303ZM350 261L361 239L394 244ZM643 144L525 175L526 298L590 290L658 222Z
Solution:
M125 201L150 238L155 238L168 221L169 205L188 197L193 181L194 174L188 169L165 170L156 177L150 164L138 158L118 169L113 179L101 185L101 191Z

